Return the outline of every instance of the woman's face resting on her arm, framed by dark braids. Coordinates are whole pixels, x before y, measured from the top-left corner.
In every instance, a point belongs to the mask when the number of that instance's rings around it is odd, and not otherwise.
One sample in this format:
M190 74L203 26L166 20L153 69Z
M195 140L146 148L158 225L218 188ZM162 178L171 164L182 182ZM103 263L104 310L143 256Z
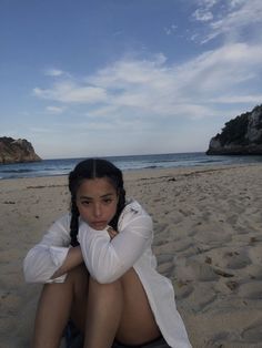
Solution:
M104 229L114 217L118 194L107 177L87 178L77 192L77 206L81 218L93 229Z

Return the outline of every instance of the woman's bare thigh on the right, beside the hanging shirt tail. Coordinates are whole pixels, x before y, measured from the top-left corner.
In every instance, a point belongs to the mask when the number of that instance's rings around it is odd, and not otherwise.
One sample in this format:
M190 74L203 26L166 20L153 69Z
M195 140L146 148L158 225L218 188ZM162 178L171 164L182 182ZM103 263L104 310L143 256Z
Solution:
M123 310L117 338L122 342L137 344L150 341L160 336L148 296L133 268L122 278Z

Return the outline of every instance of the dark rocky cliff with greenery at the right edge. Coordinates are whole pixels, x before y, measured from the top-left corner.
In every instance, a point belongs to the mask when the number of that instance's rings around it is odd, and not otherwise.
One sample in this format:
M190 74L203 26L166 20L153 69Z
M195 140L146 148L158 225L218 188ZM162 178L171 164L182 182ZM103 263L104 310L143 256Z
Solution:
M262 155L262 105L225 123L211 139L208 155Z

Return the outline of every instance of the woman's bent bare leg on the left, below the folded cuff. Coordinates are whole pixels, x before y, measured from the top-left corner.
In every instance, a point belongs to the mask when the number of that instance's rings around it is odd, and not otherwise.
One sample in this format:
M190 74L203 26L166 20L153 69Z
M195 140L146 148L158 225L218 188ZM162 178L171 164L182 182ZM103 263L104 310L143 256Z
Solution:
M75 267L62 284L52 283L43 286L36 316L33 348L59 347L71 307L73 317L78 317L78 324L83 326L84 311L80 310L79 300L84 304L84 296L81 294L87 294L88 289L88 273L84 268Z

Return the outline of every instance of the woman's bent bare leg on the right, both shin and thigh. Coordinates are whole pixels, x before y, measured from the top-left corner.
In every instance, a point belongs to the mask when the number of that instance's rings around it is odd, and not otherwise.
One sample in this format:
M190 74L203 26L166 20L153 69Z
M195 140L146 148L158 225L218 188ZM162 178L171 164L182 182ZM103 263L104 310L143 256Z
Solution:
M110 348L114 337L138 345L158 336L159 328L133 268L111 284L90 278L84 348Z

